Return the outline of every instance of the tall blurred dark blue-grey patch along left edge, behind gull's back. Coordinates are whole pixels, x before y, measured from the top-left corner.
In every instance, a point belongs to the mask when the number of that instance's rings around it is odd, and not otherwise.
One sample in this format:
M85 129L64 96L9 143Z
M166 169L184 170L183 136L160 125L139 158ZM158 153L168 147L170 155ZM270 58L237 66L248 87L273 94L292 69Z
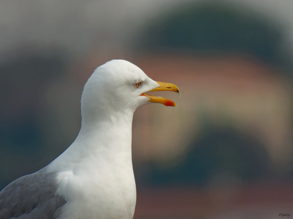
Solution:
M23 51L1 63L0 190L23 173L42 168L41 95L48 82L62 76L64 67L63 58L50 51Z

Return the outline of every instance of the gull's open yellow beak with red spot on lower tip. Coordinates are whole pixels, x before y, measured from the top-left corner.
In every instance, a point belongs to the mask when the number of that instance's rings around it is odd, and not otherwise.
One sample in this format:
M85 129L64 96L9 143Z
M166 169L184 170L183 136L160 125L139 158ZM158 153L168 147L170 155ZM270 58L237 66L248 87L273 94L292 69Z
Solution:
M156 82L160 86L157 88L154 88L150 91L174 91L179 94L179 97L181 96L180 90L175 84L158 82L158 81L156 81ZM163 97L158 97L158 96L145 94L145 93L141 94L141 96L146 96L146 97L150 98L149 102L161 103L161 104L164 104L165 106L171 106L171 107L176 106L175 102L173 102L172 100L168 100L166 98L163 98Z

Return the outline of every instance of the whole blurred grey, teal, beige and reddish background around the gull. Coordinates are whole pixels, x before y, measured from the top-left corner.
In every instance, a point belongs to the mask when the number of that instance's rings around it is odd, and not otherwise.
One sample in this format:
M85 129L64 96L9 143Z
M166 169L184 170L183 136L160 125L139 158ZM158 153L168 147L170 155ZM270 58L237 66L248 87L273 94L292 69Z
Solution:
M134 219L293 215L291 0L1 0L0 190L75 140L93 70L182 93L133 119Z

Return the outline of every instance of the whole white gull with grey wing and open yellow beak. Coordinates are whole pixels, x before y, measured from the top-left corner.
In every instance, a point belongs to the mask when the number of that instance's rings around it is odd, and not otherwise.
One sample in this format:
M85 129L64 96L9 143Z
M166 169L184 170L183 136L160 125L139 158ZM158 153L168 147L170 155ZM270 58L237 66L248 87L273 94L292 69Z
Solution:
M136 185L131 138L134 111L176 104L148 91L175 91L125 60L98 67L81 95L81 129L50 164L0 192L0 219L132 219Z

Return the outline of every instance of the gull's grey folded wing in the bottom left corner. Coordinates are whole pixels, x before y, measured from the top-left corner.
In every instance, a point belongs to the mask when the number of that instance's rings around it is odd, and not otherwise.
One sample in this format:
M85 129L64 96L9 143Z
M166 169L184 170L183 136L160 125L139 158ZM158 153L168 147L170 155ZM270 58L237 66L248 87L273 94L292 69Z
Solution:
M54 196L56 175L40 170L7 185L0 192L0 219L54 219L54 212L66 203Z

